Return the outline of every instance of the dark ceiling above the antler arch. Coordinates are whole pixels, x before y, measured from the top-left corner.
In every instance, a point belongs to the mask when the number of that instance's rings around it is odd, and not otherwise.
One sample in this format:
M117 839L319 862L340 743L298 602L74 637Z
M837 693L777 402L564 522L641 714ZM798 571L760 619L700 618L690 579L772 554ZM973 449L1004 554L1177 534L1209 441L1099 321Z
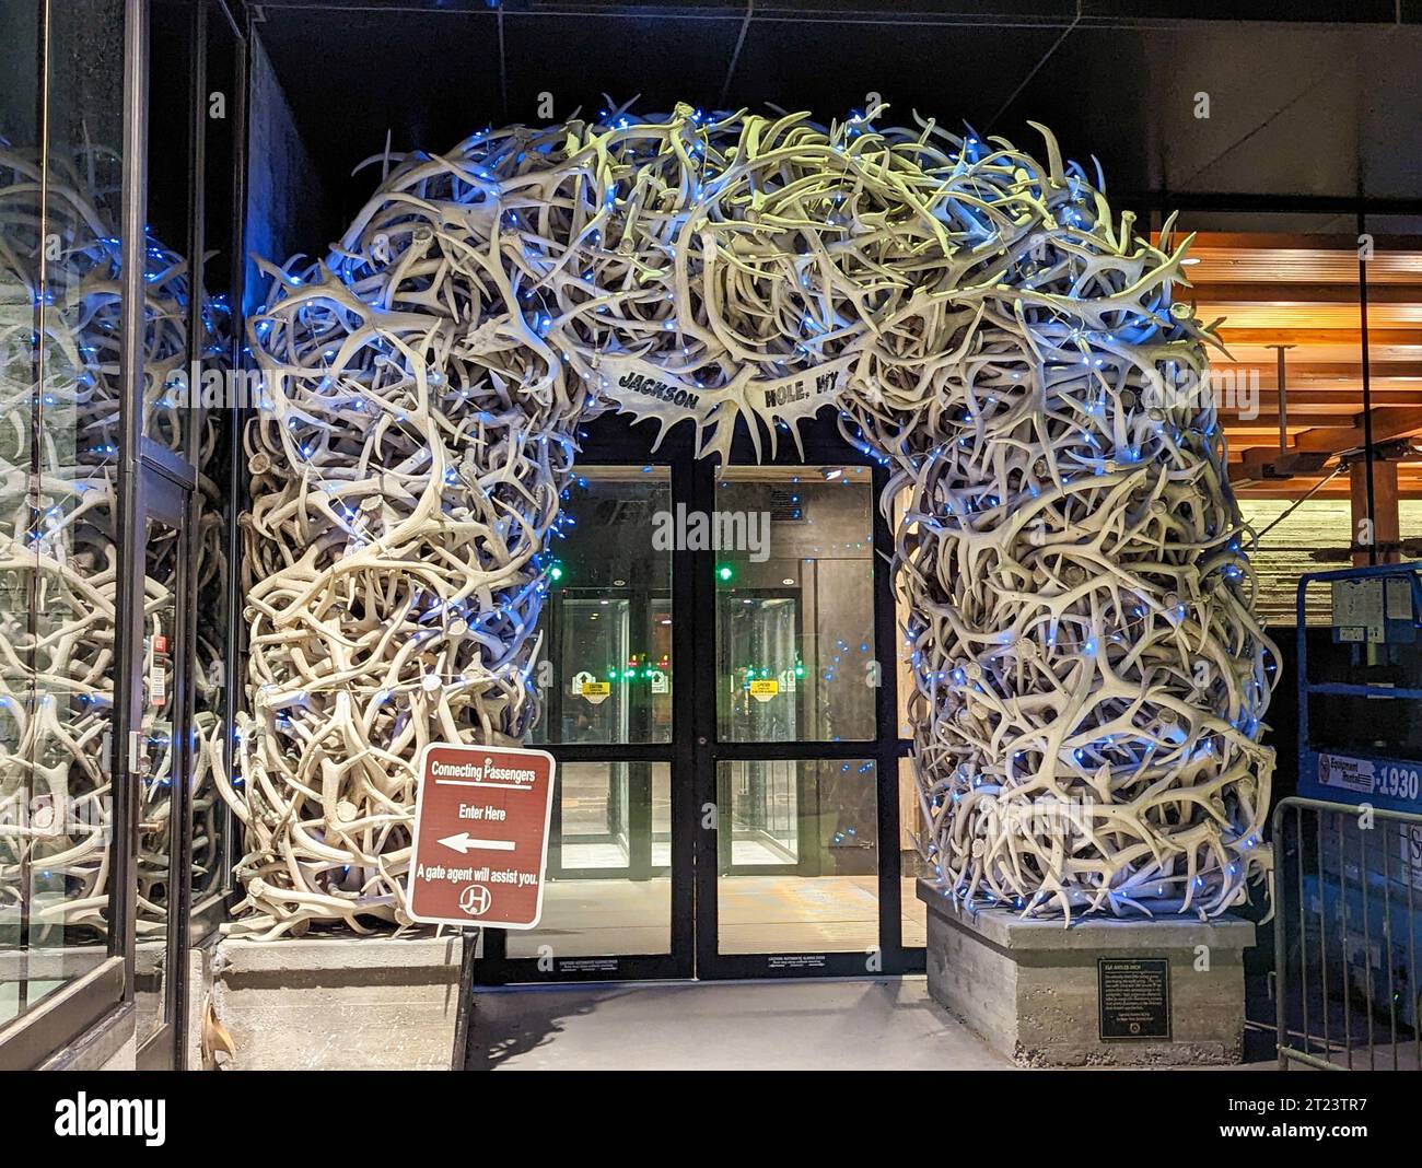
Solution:
M1202 18L1224 10L1273 21ZM1052 126L1138 203L1253 196L1422 212L1422 0L1081 4L1052 0L272 0L249 4L334 213L392 145L447 149L489 122L556 121L602 95L641 109L809 109L879 92L1034 144ZM550 94L553 118L540 118ZM1210 117L1196 117L1209 94ZM1206 199L1204 196L1209 196ZM1307 196L1283 199L1276 196Z

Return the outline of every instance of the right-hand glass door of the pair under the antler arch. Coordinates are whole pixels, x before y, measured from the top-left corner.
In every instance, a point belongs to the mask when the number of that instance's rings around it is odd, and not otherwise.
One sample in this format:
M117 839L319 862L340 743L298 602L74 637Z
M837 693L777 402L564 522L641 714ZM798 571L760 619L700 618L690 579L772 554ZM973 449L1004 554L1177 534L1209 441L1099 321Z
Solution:
M697 874L702 976L882 972L899 953L897 848L879 841L883 725L876 477L869 466L708 467L717 695L701 750L715 867ZM887 928L886 928L887 925ZM893 962L892 962L893 963Z

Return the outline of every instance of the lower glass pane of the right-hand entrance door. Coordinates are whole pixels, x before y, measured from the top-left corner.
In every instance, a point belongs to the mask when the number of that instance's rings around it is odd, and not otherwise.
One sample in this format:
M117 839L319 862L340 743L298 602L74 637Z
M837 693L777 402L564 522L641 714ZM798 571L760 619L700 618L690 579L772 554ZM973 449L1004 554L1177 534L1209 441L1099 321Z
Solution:
M879 945L876 773L866 759L718 764L720 952Z

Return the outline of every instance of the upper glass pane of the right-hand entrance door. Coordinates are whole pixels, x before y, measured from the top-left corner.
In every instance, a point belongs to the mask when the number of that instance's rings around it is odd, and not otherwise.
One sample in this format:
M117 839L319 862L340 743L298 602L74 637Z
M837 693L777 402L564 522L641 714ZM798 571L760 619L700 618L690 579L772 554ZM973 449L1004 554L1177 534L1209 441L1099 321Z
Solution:
M873 739L869 467L728 467L711 519L721 740Z

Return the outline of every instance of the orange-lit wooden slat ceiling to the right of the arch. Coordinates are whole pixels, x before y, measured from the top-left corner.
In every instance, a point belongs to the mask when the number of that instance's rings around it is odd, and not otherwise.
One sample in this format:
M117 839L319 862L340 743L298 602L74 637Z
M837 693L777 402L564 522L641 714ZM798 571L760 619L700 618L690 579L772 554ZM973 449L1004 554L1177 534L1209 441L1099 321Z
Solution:
M1193 301L1206 323L1224 318L1219 335L1227 355L1213 354L1212 368L1258 377L1258 416L1240 418L1233 402L1220 408L1236 489L1256 497L1307 493L1340 453L1361 445L1357 236L1202 232L1185 273L1189 287L1177 287L1177 298ZM1321 469L1288 479L1261 470L1278 456L1278 357L1270 345L1293 345L1285 354L1288 450L1328 456ZM1374 240L1368 352L1375 440L1422 445L1422 239ZM1422 499L1422 455L1401 463L1398 485L1404 497ZM1318 497L1347 494L1348 477L1340 475Z

